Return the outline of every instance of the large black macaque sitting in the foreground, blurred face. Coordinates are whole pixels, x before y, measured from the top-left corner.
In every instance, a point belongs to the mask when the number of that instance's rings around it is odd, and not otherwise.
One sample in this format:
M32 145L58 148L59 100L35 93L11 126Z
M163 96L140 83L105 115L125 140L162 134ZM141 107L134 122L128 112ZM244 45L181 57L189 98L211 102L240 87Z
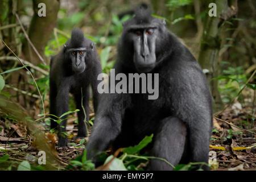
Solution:
M208 163L212 97L207 80L188 48L168 32L163 19L151 16L147 6L139 7L135 16L123 23L114 68L115 74L127 77L128 73L158 73L159 97L148 100L148 93L102 94L87 159L98 162L97 155L110 145L114 150L133 146L153 133L152 156L174 166ZM148 169L173 168L153 159Z

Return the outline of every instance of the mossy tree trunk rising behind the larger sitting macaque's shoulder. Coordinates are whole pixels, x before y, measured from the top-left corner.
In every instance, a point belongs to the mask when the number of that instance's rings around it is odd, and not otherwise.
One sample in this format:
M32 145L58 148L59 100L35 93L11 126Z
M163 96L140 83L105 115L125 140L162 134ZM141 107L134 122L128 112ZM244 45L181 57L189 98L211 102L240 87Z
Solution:
M215 0L208 2L216 3L217 16L210 17L207 12L207 20L205 20L204 23L203 36L201 40L199 63L203 69L208 70L207 80L214 99L214 111L217 111L222 109L223 102L221 100L220 93L218 92L218 80L212 80L212 78L217 77L220 70L220 57L218 56L221 46L220 24L223 20L228 19L228 16L232 15L230 14L230 8L227 0ZM210 8L208 10L210 10Z

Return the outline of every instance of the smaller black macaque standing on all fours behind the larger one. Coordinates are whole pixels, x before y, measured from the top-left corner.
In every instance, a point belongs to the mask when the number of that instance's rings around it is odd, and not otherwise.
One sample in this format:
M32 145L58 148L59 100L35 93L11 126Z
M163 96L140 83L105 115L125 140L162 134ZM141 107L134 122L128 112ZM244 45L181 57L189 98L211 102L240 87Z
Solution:
M61 51L51 58L49 74L50 114L60 117L69 111L69 93L72 93L79 120L77 137L86 137L86 121L89 121L89 85L93 90L94 111L97 109L99 95L97 76L101 73L100 59L93 42L84 37L83 32L75 28ZM84 107L84 110L82 108ZM55 117L52 117L56 119ZM67 118L67 115L61 119ZM60 122L51 121L51 129L59 130L59 147L68 146L66 131L67 119Z

